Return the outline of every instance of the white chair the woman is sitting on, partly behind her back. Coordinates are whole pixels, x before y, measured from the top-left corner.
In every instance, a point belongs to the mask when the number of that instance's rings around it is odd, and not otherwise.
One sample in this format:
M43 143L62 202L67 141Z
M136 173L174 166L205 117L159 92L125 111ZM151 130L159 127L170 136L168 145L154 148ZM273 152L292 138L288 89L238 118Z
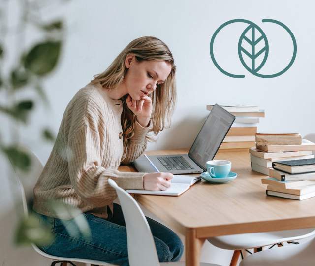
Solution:
M31 149L28 147L24 147L24 150L29 154L32 160L32 166L30 171L25 174L23 172L15 170L16 173L16 179L17 183L19 186L20 190L20 195L22 198L22 204L23 204L23 210L24 210L24 215L28 217L28 204L27 202L32 202L33 199L33 188L35 186L35 183L40 175L40 173L43 170L43 165L41 164L40 160L36 156L35 153L32 152ZM11 164L12 165L12 164ZM12 165L13 167L13 165ZM104 265L104 266L113 266L113 264L108 264L106 262L102 261L96 261L96 260L89 260L89 259L81 259L81 258L67 258L67 257L58 257L58 256L53 256L50 254L47 254L43 251L41 251L36 245L32 244L33 249L39 253L40 255L52 259L55 262L52 263L52 265L55 265L57 262L61 263L62 266L67 266L67 264L72 264L72 262L81 262L85 264L91 264L92 266L99 266L99 265ZM73 265L73 264L72 264Z

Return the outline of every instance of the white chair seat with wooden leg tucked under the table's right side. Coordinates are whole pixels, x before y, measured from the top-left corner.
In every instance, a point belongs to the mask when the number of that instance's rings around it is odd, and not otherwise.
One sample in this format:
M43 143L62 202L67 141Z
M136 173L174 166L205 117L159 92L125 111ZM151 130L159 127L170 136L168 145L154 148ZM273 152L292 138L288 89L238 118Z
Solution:
M264 246L275 245L282 242L291 242L312 235L315 235L315 229L306 228L263 233L224 235L208 238L208 241L216 247L234 250L230 266L236 266L241 250L255 249L256 252L260 250L259 248Z

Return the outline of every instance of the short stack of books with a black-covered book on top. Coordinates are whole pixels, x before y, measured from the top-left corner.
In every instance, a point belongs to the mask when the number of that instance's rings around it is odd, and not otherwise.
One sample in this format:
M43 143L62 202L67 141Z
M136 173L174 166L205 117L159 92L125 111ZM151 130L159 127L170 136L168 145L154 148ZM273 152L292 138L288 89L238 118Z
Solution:
M272 163L266 194L288 199L308 199L315 196L315 159L301 159Z

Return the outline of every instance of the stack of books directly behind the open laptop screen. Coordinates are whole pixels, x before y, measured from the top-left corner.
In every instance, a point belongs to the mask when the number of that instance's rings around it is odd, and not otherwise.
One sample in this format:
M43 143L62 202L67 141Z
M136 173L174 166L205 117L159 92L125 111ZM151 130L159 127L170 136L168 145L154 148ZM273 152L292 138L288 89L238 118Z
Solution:
M211 111L214 105L207 105ZM220 149L250 148L255 145L255 133L260 117L265 112L253 105L221 105L222 108L235 116L235 121L223 140Z

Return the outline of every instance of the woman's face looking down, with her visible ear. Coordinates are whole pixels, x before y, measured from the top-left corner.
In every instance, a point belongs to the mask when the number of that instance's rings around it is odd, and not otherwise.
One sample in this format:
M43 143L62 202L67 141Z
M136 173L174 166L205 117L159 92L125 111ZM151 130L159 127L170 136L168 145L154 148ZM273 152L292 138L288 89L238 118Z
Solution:
M172 66L166 61L138 62L134 55L126 56L128 68L124 85L133 100L140 100L152 93L158 84L162 84L171 72Z

